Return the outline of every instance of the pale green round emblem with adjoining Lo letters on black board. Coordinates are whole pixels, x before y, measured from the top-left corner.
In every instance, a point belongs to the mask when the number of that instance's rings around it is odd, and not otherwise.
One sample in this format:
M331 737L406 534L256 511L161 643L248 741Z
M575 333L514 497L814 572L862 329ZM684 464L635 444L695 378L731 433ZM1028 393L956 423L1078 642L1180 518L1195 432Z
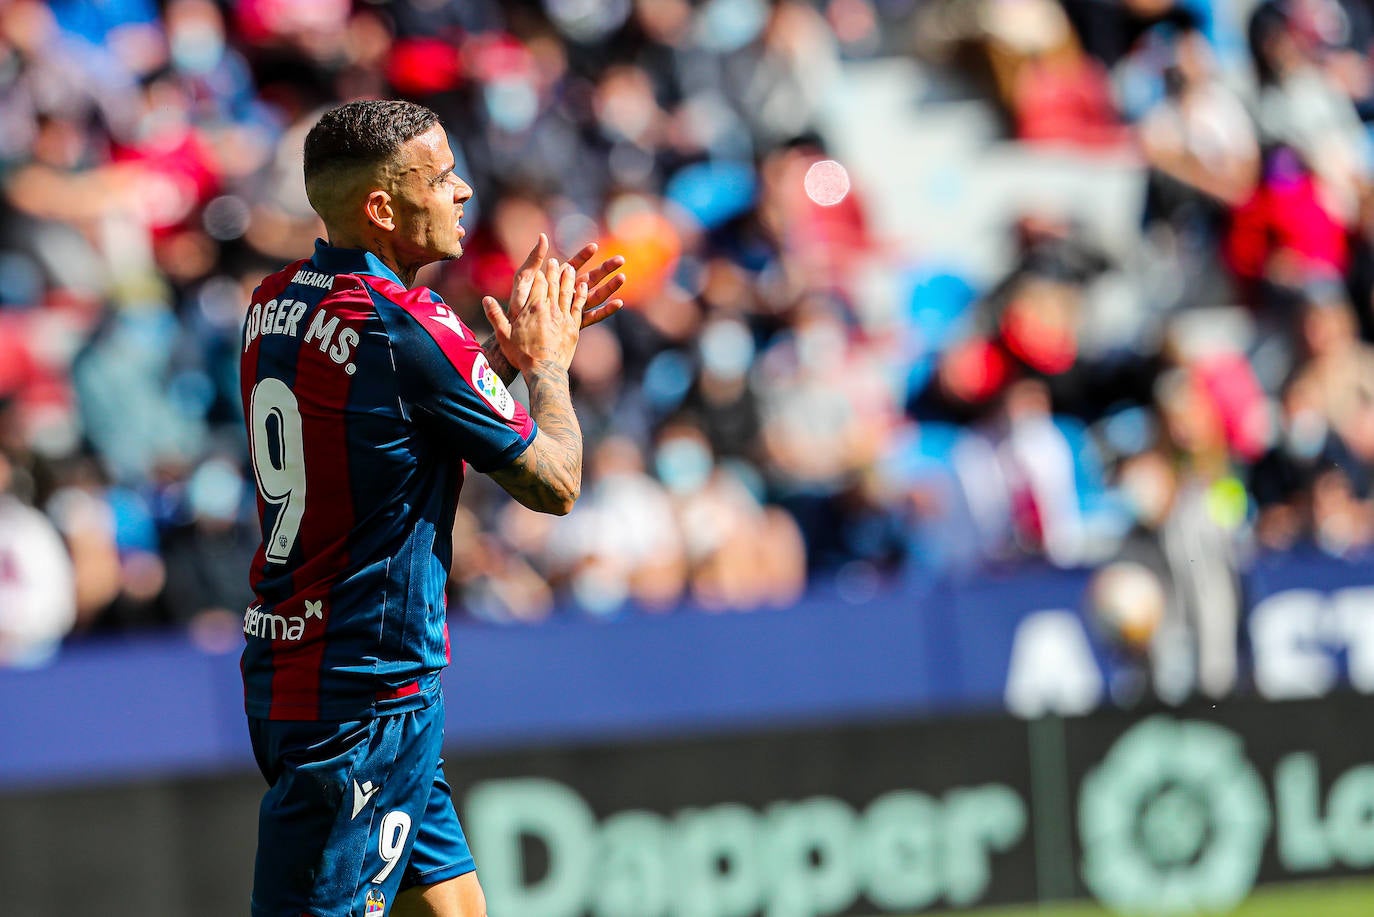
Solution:
M1315 751L1293 751L1265 781L1219 723L1142 720L1080 786L1083 881L1121 913L1212 914L1249 895L1271 840L1285 877L1366 870L1374 764L1322 770Z

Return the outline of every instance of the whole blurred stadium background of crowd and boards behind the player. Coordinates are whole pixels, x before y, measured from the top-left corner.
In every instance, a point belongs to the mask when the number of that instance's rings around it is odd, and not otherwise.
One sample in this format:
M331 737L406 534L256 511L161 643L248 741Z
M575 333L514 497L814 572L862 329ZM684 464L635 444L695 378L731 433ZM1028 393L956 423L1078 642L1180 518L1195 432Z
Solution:
M1371 49L1367 0L0 0L5 899L246 913L243 305L322 234L306 129L400 96L469 324L537 232L631 276L577 509L459 510L493 914L1374 913Z

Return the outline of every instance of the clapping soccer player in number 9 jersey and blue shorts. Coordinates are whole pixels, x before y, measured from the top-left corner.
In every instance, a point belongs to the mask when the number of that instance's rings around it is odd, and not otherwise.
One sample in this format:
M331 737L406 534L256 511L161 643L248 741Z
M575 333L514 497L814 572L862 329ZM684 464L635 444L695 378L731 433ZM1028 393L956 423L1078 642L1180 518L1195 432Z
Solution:
M462 254L471 188L437 115L353 102L305 139L328 242L262 280L242 395L262 546L243 620L253 751L268 781L253 917L484 917L440 747L444 584L464 465L547 513L572 509L578 330L617 311L618 258L545 261L478 344L425 264ZM591 287L591 293L588 291ZM529 385L529 412L506 382Z

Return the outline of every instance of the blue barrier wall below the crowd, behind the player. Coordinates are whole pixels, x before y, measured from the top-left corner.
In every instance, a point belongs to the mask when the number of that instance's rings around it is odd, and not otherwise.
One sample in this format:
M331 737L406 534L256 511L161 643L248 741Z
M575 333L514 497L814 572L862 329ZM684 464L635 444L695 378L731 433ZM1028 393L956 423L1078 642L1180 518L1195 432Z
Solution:
M796 608L750 615L455 621L451 749L993 709L1022 624L1055 609L1077 621L1080 656L1107 683L1112 654L1080 610L1085 582L1081 572L1036 569L861 604L819 591ZM1252 608L1267 609L1254 619L1261 634L1242 634L1261 656L1261 687L1314 696L1349 676L1374 690L1370 584L1369 564L1261 560L1249 584ZM1366 656L1360 675L1352 660ZM180 635L77 643L47 668L0 671L0 781L247 769L240 703L236 653L205 652Z

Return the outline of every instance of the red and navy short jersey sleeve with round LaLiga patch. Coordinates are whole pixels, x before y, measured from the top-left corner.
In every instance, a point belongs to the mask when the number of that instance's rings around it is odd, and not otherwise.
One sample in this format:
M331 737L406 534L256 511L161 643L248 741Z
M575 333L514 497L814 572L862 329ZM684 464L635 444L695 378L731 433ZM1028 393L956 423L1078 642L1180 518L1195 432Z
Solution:
M397 287L398 290L401 287ZM433 291L374 301L386 324L404 407L478 472L514 462L537 428L486 362L473 331Z

